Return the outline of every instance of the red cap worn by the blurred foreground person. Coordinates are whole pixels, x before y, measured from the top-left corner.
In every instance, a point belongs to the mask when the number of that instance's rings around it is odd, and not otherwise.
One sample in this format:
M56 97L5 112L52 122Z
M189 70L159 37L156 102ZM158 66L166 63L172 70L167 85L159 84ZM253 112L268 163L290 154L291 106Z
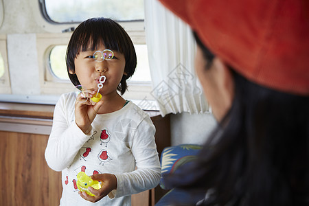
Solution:
M257 84L309 95L308 0L160 0Z

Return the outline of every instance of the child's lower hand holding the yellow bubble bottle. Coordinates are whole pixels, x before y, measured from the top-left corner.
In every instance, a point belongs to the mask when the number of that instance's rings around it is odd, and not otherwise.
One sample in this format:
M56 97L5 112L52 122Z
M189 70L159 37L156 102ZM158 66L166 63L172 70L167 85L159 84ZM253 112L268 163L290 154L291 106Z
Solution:
M95 196L90 196L86 192L78 192L78 194L80 194L80 196L87 201L92 203L98 202L112 190L117 189L117 178L113 174L94 174L91 178L96 181L101 181L102 187L100 190L95 190L93 187L88 187L89 191Z

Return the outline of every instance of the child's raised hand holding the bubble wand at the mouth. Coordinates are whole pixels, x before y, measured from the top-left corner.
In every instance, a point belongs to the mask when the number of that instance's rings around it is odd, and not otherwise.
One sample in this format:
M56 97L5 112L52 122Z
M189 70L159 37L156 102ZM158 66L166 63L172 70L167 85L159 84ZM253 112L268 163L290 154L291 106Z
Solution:
M96 91L87 90L84 93L80 93L76 98L75 104L75 121L77 126L85 133L89 133L91 128L91 123L97 115L103 101L99 101L96 104L91 104L90 98Z

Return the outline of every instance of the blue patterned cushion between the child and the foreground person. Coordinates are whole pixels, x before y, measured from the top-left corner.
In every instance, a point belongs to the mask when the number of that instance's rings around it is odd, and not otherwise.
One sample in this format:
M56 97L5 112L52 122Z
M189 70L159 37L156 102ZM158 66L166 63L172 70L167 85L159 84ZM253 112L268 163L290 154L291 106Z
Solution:
M196 159L196 155L202 146L197 144L181 144L164 148L161 154L161 174L173 173L177 168L185 163L190 163ZM161 175L160 186L162 189L170 190L165 187L164 179Z

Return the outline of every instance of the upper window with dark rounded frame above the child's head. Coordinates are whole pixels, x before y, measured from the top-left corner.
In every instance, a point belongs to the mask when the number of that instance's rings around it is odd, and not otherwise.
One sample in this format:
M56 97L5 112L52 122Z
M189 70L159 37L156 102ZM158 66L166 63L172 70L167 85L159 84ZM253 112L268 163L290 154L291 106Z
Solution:
M45 32L70 32L71 27L77 27L85 19L104 16L118 21L127 32L136 33L138 31L139 34L144 36L144 0L114 0L110 2L106 0L29 1L30 8L32 8L34 13L34 21ZM99 7L100 3L104 3L104 6ZM80 5L85 6L82 7ZM90 8L86 9L87 6ZM98 8L100 8L100 11L97 10ZM109 13L109 10L113 12Z

